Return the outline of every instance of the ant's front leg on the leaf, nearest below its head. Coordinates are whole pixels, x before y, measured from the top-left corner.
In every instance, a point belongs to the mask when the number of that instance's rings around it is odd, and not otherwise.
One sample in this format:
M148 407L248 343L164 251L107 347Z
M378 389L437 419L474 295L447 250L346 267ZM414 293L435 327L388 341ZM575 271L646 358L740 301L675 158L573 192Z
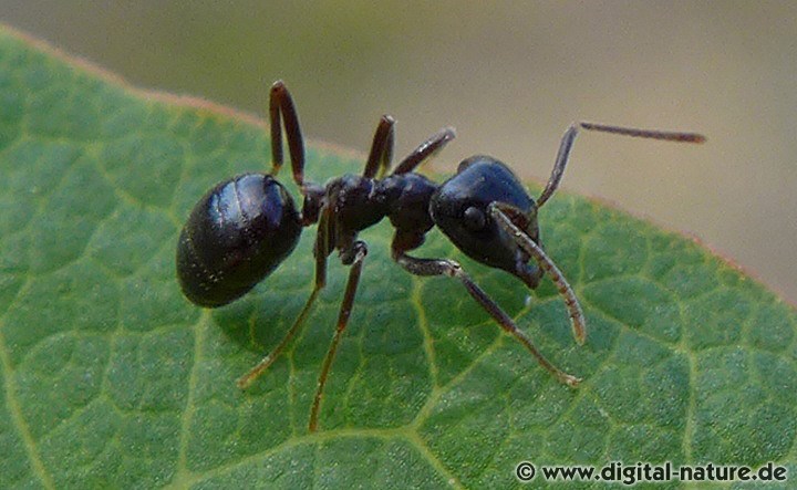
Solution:
M395 260L398 265L415 275L448 275L449 278L458 279L467 290L468 294L470 294L470 296L476 300L476 302L482 305L482 307L489 313L490 316L493 316L493 320L495 320L501 329L510 333L518 342L520 342L524 347L526 347L526 350L535 356L540 366L548 369L557 377L557 379L568 386L575 387L581 382L581 379L576 376L565 373L551 364L550 361L548 361L537 350L537 347L535 347L531 338L518 329L513 319L509 317L509 315L507 315L504 310L501 310L500 306L498 306L498 304L470 279L470 277L457 262L445 259L418 259L407 256L404 252L405 247L401 243L402 238L396 234L393 239L393 260Z

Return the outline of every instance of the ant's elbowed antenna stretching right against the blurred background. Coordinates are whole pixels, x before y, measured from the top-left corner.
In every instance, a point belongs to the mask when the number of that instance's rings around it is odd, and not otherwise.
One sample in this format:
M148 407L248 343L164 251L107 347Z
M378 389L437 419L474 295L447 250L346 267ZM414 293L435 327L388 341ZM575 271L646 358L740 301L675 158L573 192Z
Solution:
M557 153L557 159L556 164L553 165L553 170L551 170L550 178L548 179L548 184L546 185L545 190L542 194L540 194L540 197L537 199L537 208L542 207L542 205L550 198L556 189L559 187L559 181L562 178L562 175L565 174L565 167L568 164L568 159L570 158L570 149L572 148L573 140L576 140L576 136L578 135L579 129L588 129L588 131L599 131L602 133L613 133L617 135L624 135L624 136L634 136L640 138L652 138L652 139L663 139L666 142L680 142L680 143L703 143L705 142L705 136L697 134L697 133L681 133L681 132L669 132L669 131L654 131L654 129L638 129L634 127L620 127L620 126L610 126L605 124L594 124L594 123L587 123L583 121L578 121L576 123L572 123L570 127L567 128L565 132L565 136L562 136L562 140L559 144L559 153Z

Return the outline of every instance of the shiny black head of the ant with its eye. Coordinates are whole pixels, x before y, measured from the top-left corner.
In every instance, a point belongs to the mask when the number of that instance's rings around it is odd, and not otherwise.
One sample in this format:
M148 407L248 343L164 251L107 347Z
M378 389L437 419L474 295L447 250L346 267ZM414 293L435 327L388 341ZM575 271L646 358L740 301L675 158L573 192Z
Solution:
M529 282L532 268L517 241L490 216L493 202L510 205L526 218L524 231L539 240L537 205L515 174L488 156L474 156L432 196L432 219L472 259Z

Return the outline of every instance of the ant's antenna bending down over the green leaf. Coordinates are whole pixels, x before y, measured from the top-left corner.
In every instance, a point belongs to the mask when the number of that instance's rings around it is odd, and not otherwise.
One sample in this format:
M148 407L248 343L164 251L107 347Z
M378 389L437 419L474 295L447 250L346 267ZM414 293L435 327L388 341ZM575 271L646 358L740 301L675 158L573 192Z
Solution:
M572 326L573 337L579 345L583 345L587 340L587 321L584 320L583 311L581 311L581 305L576 298L576 293L573 293L572 288L570 288L570 284L568 284L565 275L556 263L542 251L542 248L535 243L535 241L522 231L525 229L525 216L522 212L511 206L499 202L490 204L489 212L498 226L515 239L518 247L537 261L540 269L545 270L557 285L557 290L559 290L559 294L565 299L565 304L570 314L570 325Z

